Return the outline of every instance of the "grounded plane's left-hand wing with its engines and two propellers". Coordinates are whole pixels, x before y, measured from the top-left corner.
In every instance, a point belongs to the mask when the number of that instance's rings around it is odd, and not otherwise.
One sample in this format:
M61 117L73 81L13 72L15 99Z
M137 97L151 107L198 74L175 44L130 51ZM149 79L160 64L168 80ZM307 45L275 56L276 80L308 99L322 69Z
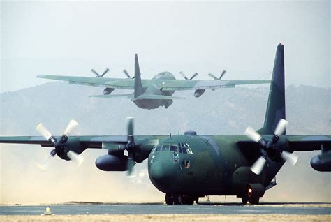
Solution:
M41 136L2 136L0 143L41 145L41 147L53 147L50 154L45 158L40 168L45 168L56 154L64 160L71 160L80 165L83 161L79 156L85 149L107 149L108 155L101 156L96 161L98 168L105 165L113 165L115 171L128 170L129 175L135 162L142 162L148 158L149 153L165 138L164 135L133 135L133 118L128 118L126 128L127 135L86 135L70 136L73 128L78 126L75 120L71 120L62 136L53 136L50 131L38 124L36 130ZM124 150L128 156L124 156Z

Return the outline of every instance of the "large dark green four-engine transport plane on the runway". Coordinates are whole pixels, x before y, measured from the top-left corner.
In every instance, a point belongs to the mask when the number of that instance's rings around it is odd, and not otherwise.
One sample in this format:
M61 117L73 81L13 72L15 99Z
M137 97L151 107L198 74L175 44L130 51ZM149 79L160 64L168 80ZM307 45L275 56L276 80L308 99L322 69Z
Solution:
M0 137L1 143L37 144L54 147L64 160L82 163L85 149L108 149L96 159L105 171L133 170L136 163L148 161L152 184L165 193L172 204L193 204L205 195L236 195L243 203L258 204L285 161L294 164L293 151L322 150L311 159L319 171L331 171L331 135L285 135L284 46L279 44L263 128L247 128L246 135L134 135L133 119L128 118L127 135L69 136L77 123L71 121L64 135L54 136L38 124L38 136ZM128 151L128 156L124 155ZM43 165L45 166L45 164Z

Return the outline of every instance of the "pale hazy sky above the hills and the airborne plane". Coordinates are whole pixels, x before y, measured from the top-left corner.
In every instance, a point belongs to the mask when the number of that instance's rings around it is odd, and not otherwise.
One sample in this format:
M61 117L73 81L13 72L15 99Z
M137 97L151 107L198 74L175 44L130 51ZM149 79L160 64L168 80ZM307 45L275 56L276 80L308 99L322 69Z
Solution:
M48 80L38 74L144 78L179 71L200 79L270 78L284 43L286 84L330 87L330 2L1 1L1 89Z

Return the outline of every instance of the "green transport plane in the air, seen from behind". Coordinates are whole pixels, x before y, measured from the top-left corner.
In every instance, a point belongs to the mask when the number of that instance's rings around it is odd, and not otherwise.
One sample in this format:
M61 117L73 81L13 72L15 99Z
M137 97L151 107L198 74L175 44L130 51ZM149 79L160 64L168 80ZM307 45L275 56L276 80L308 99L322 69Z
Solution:
M270 83L270 80L221 80L226 71L221 73L220 77L216 77L209 73L209 76L214 80L193 80L198 75L195 73L191 78L183 75L185 80L176 80L175 76L169 72L162 72L155 75L152 80L141 80L138 56L135 54L135 76L131 77L124 70L127 78L106 78L103 77L109 71L100 75L91 70L96 77L79 77L79 76L64 76L64 75L38 75L38 78L50 80L62 80L71 84L82 84L91 87L105 87L103 95L90 97L98 98L129 98L135 105L142 109L156 109L160 106L168 108L174 99L183 99L183 97L172 96L175 91L180 90L195 90L194 96L200 97L206 89L230 88L240 84L264 84ZM111 94L115 89L133 89L132 94Z

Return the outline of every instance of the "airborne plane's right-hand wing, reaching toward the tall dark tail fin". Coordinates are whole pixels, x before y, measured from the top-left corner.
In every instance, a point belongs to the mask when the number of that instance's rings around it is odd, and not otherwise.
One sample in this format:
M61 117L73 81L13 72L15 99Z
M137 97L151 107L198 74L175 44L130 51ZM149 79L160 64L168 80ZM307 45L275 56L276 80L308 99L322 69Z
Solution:
M242 84L266 83L270 83L270 80L163 80L162 82L157 82L157 86L162 91L176 91L232 88Z

